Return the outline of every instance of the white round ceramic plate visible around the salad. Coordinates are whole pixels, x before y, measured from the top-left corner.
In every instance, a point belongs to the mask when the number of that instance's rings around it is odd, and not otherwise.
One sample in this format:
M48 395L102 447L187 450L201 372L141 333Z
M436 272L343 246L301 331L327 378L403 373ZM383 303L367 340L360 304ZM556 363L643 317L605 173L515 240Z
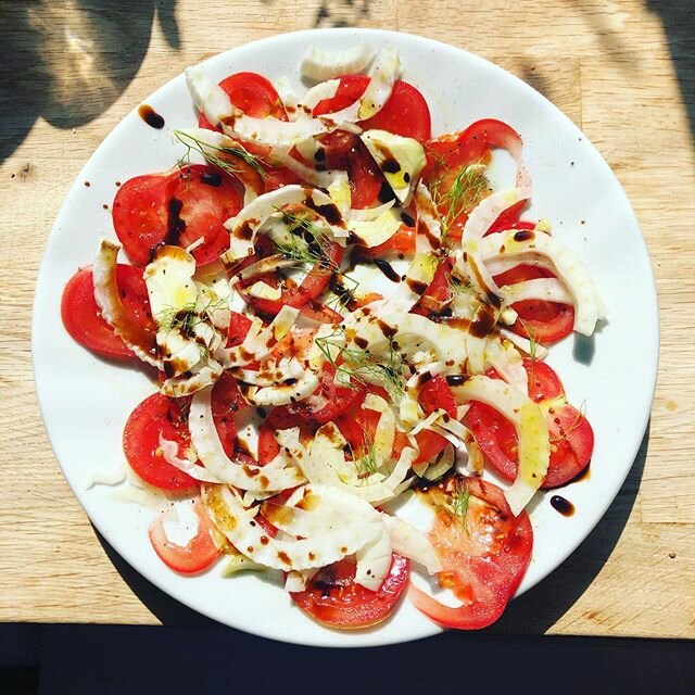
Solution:
M404 78L430 104L434 134L459 130L483 117L505 121L521 134L533 177L528 218L553 223L557 238L585 258L609 307L609 320L594 339L580 343L569 338L553 348L548 359L570 400L585 403L596 445L591 477L561 491L576 505L574 516L560 516L547 494L532 505L534 552L522 593L552 572L594 528L618 493L644 434L658 358L657 302L646 247L616 177L569 118L521 80L459 49L407 34L329 29L249 43L205 65L218 79L239 71L270 79L288 74L302 88L299 64L308 43L346 48L361 41L400 50ZM182 75L146 102L164 116L167 127L195 122ZM111 206L115 182L167 169L176 159L166 128L154 130L130 113L78 176L46 248L34 314L36 383L51 444L75 495L132 567L173 597L223 623L321 646L390 644L438 633L440 629L407 599L386 623L345 633L313 622L277 584L253 573L222 579L213 569L194 578L177 576L148 542L154 513L114 501L108 488L86 490L91 470L113 469L123 460L124 422L154 387L141 372L102 362L75 343L61 324L61 293L77 267L91 263L100 235L113 237L103 204Z

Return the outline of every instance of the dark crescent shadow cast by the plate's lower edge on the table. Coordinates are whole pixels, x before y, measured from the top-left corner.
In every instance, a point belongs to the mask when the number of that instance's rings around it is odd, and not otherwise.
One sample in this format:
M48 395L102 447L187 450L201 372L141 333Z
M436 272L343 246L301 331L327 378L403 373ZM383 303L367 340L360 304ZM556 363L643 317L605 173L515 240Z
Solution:
M577 602L612 553L630 517L642 479L649 444L645 432L637 456L616 500L603 519L574 553L540 584L513 601L504 616L484 632L543 634ZM163 624L217 626L218 623L178 603L128 565L94 529L109 559L138 598ZM444 639L458 639L447 633Z

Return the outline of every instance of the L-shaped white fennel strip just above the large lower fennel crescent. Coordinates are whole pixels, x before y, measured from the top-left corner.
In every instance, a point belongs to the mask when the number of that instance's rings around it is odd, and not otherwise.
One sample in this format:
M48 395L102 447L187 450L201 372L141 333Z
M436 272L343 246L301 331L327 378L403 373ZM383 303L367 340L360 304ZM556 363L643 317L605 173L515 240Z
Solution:
M217 480L240 490L257 492L279 492L304 482L304 477L294 467L240 465L231 460L225 453L215 428L211 395L212 388L195 393L188 427L200 462Z

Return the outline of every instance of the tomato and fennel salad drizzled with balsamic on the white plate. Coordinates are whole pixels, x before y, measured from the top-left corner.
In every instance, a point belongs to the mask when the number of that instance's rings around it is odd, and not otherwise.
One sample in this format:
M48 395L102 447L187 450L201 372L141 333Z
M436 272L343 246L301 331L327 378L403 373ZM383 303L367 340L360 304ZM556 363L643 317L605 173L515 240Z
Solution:
M150 526L173 571L279 574L332 628L376 624L407 594L480 629L531 560L528 503L591 459L544 358L605 307L549 224L525 218L509 125L433 137L392 48L309 48L301 72L303 94L186 71L198 127L172 130L172 169L119 187L118 242L67 282L63 324L156 384L123 451L193 519L184 540L170 508ZM417 521L399 516L413 501Z

